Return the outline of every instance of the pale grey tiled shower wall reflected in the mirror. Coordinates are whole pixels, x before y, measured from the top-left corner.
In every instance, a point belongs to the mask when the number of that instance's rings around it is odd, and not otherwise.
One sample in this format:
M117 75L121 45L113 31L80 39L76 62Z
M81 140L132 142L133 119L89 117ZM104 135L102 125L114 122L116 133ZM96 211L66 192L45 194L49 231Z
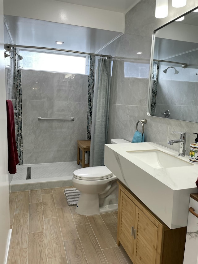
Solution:
M181 44L180 44L181 45ZM173 119L198 122L198 76L197 51L169 58L172 61L185 62L187 68L174 65L164 74L163 70L170 63L160 63L157 83L157 100L155 115L162 117L165 110L170 111Z

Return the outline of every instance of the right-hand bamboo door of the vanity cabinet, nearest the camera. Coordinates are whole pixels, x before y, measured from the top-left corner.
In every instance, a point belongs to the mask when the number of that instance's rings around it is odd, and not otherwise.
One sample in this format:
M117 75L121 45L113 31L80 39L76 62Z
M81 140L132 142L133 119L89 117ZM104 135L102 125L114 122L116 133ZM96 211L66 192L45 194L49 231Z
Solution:
M134 263L155 264L157 231L154 223L136 207L136 226L134 231Z

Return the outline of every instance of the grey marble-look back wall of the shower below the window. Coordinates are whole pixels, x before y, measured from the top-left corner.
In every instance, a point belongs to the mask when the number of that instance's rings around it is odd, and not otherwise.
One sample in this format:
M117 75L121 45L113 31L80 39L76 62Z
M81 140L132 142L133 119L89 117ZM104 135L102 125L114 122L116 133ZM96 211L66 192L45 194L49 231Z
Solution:
M87 94L87 75L22 71L24 164L77 160L76 141L87 136Z

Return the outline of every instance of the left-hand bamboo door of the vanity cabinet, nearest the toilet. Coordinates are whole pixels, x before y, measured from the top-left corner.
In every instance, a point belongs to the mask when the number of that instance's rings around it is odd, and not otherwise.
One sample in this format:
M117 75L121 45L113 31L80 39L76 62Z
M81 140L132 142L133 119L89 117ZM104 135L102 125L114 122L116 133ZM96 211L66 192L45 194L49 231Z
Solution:
M135 228L136 206L125 193L120 192L120 215L118 239L125 251L133 259L134 239L133 230Z

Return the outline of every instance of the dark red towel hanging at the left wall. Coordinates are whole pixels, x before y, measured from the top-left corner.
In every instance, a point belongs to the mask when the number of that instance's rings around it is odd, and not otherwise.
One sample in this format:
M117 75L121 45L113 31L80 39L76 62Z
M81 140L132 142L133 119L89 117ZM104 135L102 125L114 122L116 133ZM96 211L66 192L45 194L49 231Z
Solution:
M16 173L16 165L19 163L15 141L15 119L14 109L11 100L6 100L7 108L7 143L8 143L8 171Z

